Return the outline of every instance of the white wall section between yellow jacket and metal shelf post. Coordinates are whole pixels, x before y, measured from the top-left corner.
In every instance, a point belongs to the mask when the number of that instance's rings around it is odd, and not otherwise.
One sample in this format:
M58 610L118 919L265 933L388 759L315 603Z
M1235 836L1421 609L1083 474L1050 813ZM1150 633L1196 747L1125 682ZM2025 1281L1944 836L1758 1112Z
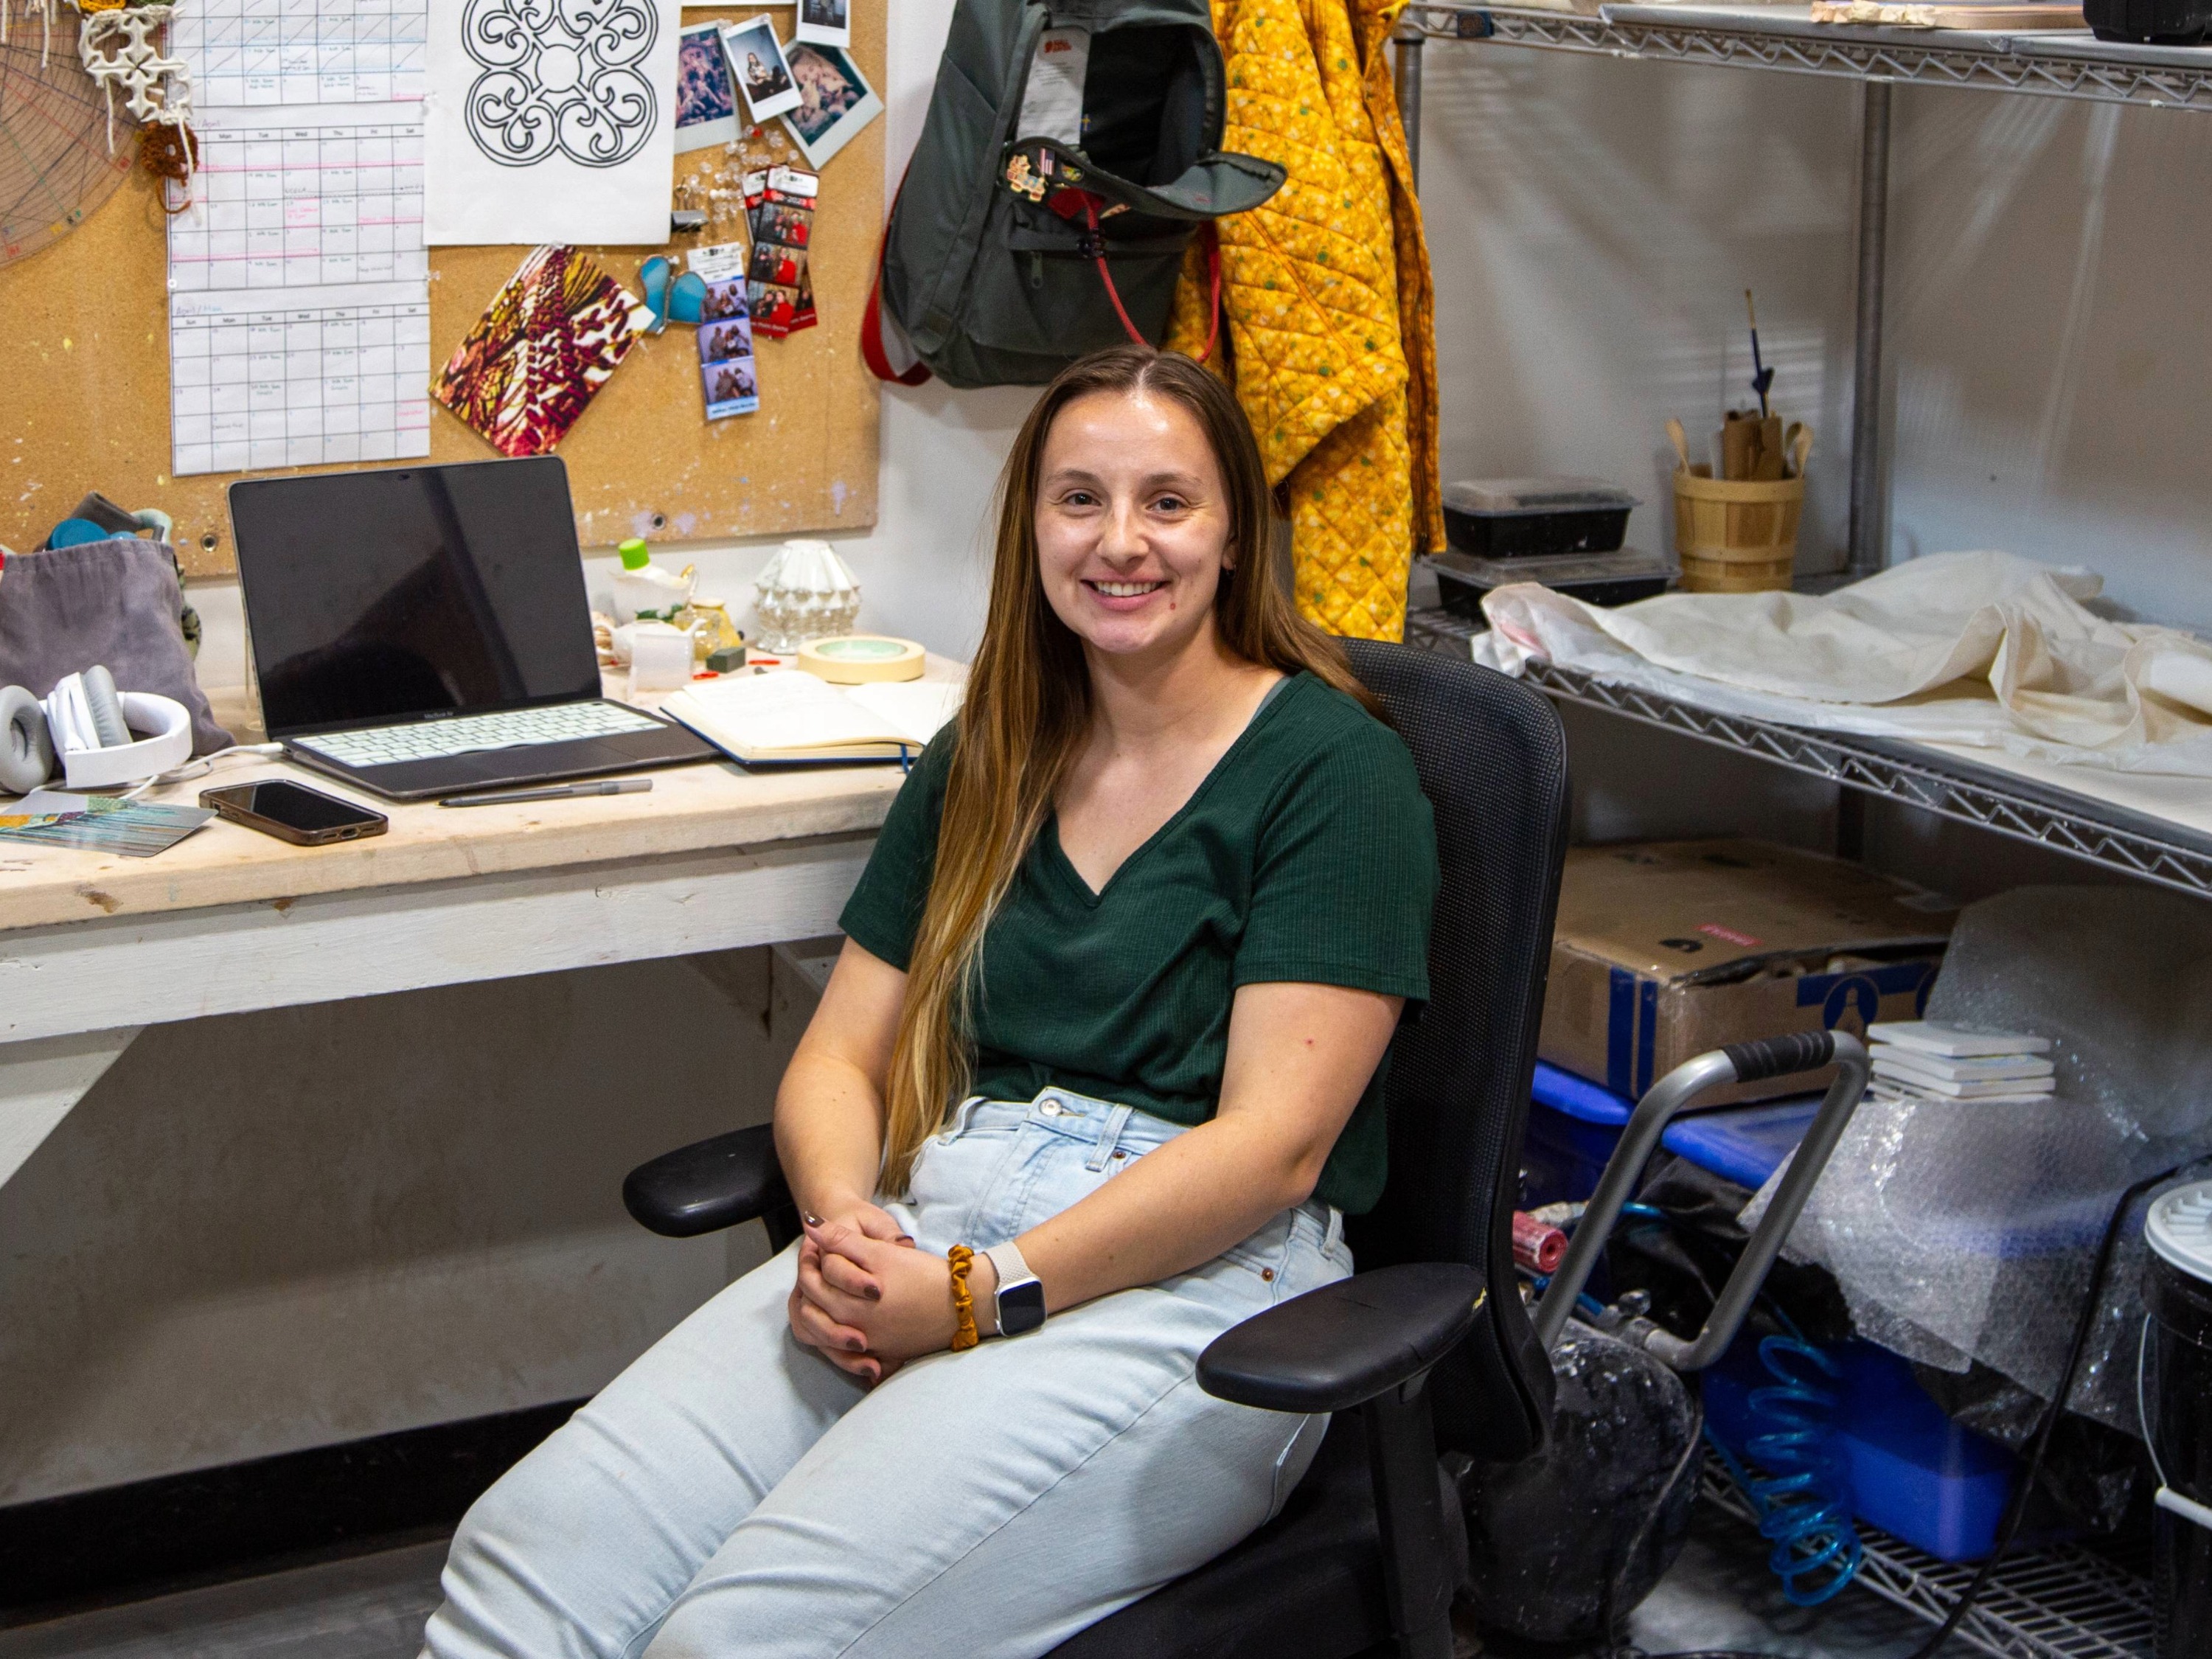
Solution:
M1814 427L1803 568L1845 542L1854 95L1832 82L1425 49L1420 184L1444 478L1593 473L1668 546L1672 449L1750 400Z

